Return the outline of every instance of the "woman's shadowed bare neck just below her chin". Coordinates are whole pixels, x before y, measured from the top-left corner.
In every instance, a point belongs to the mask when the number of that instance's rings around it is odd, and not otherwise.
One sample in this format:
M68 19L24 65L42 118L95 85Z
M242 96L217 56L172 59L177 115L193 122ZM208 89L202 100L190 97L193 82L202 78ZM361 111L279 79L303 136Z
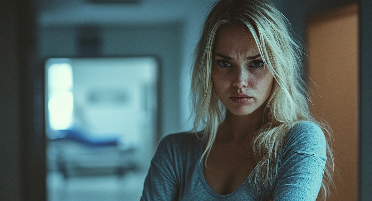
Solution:
M245 116L237 116L227 110L225 120L218 129L218 139L221 142L250 142L253 133L262 127L263 108L262 105Z

